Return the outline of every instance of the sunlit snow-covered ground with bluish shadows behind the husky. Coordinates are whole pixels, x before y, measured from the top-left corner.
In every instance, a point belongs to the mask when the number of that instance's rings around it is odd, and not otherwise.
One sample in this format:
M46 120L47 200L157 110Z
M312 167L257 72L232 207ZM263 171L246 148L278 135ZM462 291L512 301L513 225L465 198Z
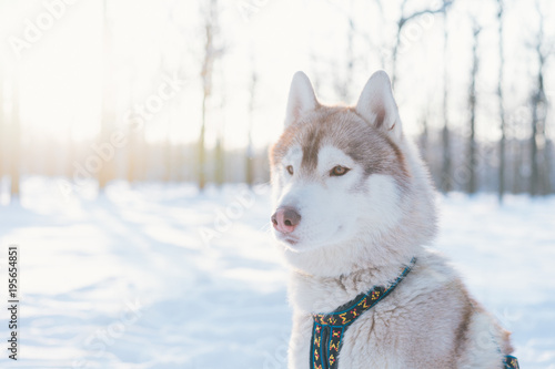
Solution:
M59 184L28 178L21 205L0 207L0 299L10 244L22 293L20 359L3 348L1 368L286 368L268 187L117 183L92 199ZM555 368L555 197L440 203L436 247L514 331L522 368Z

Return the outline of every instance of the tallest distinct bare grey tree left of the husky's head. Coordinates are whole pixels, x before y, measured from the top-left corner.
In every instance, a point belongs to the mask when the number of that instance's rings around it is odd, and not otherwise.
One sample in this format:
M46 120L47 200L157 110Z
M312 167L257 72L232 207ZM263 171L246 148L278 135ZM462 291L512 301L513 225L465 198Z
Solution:
M223 49L216 49L215 37L219 33L219 6L218 0L210 0L208 9L203 11L204 19L204 58L202 60L201 80L202 80L202 121L199 135L199 188L203 189L206 185L206 155L204 150L204 134L206 131L206 110L208 102L212 95L212 76L214 62L223 53Z

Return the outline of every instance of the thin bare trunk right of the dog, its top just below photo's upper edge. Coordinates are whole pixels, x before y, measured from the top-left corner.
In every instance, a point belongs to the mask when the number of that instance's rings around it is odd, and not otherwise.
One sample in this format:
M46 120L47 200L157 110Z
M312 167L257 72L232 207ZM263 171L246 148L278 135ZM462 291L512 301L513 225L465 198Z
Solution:
M471 71L471 86L468 90L468 110L471 113L470 120L470 135L468 135L468 183L466 191L474 194L477 189L476 178L476 75L478 73L480 59L478 59L478 37L482 28L474 19L473 24L473 45L472 45L472 71Z

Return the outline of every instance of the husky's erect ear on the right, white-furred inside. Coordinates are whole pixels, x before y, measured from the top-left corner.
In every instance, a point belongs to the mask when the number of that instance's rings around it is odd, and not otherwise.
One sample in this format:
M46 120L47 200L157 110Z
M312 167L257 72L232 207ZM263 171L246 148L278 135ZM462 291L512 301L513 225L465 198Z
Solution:
M387 73L377 71L370 78L356 103L356 112L370 124L386 131L395 139L401 136L401 119L393 99Z

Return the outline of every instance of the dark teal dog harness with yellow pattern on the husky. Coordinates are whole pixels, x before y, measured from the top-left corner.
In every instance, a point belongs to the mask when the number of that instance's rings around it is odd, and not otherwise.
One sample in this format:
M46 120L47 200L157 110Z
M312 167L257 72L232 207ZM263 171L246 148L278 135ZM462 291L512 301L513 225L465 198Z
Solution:
M340 306L330 314L313 314L310 368L337 369L337 359L343 345L343 337L349 327L365 311L385 298L411 271L416 258L401 273L390 287L377 286L366 294ZM518 369L518 361L513 356L503 360L505 369Z

